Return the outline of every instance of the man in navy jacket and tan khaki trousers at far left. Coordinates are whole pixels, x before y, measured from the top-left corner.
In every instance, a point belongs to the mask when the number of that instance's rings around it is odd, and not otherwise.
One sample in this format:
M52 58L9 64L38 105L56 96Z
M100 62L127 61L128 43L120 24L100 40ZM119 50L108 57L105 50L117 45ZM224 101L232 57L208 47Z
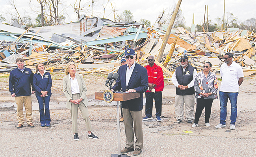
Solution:
M30 68L24 66L23 58L17 58L17 69L13 69L9 77L9 91L11 96L15 98L17 104L17 117L18 126L17 129L22 128L24 125L23 104L26 110L26 119L28 126L33 128L32 118L32 99L31 99L31 87L32 94L35 93L33 86L33 73Z

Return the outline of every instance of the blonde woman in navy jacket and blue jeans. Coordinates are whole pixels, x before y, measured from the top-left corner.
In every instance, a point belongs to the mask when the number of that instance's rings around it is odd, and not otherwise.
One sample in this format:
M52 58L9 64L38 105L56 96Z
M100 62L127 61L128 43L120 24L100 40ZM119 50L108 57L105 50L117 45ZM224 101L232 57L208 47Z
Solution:
M40 112L40 122L41 126L50 126L50 110L49 102L51 98L51 87L52 78L50 73L45 70L45 66L42 62L38 62L35 66L36 73L34 75L34 88L35 96L37 97ZM44 105L45 104L45 105ZM44 111L45 106L45 111Z

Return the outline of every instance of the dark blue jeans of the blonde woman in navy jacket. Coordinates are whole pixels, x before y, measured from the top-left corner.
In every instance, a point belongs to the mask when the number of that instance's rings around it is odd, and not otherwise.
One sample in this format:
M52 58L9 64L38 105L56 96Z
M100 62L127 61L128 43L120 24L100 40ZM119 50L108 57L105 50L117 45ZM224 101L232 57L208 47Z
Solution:
M51 96L48 95L46 97L40 97L40 96L36 96L36 97L37 97L38 104L39 104L41 124L50 124L51 118L50 118L49 102L50 102ZM44 111L44 106L45 106L45 111Z

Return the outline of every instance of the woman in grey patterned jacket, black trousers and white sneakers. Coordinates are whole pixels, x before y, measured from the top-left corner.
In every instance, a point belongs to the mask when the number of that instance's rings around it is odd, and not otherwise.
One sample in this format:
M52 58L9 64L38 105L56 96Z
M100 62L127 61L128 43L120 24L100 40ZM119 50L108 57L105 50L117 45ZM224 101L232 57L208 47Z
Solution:
M195 98L197 99L197 109L195 113L195 120L192 124L192 128L198 126L199 118L203 109L205 110L205 125L210 127L209 119L211 116L211 105L214 99L218 99L218 80L215 73L211 72L211 63L206 62L203 66L204 70L197 74L195 79Z

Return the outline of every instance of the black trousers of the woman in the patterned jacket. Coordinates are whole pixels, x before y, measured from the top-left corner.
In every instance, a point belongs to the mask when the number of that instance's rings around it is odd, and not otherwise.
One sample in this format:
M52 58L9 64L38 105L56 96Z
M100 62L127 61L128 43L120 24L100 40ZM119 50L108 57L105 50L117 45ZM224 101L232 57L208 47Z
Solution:
M212 105L213 99L204 99L204 97L197 99L197 110L195 113L195 121L194 123L197 124L199 121L199 118L202 114L202 111L204 110L205 113L205 123L209 122L210 116L211 116L211 105Z

